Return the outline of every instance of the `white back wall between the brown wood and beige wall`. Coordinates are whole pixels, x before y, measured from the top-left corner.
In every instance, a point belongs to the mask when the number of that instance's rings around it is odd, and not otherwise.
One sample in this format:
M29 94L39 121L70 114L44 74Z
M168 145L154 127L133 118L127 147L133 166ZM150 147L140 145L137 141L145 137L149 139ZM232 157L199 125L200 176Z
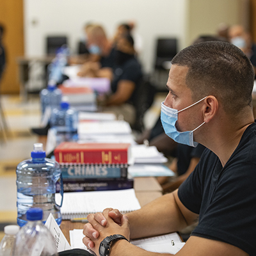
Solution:
M24 0L26 56L42 56L47 35L67 35L72 52L83 35L83 25L99 22L108 36L118 23L136 21L143 38L141 61L148 72L153 67L157 36L176 36L185 46L186 0Z

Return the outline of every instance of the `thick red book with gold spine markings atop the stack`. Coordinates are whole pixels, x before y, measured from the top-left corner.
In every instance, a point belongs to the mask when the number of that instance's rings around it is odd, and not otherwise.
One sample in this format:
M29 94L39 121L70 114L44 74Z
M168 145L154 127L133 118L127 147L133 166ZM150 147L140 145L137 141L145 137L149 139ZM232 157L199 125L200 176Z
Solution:
M63 142L54 150L59 163L127 164L131 157L129 143Z

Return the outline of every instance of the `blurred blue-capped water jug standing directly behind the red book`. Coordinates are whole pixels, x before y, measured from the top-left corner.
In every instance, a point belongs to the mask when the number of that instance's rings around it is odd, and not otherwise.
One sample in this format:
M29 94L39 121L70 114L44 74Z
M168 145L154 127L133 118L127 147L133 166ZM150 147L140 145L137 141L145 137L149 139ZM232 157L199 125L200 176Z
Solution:
M70 108L66 97L63 97L60 108L52 109L50 125L56 130L57 145L77 140L78 112Z

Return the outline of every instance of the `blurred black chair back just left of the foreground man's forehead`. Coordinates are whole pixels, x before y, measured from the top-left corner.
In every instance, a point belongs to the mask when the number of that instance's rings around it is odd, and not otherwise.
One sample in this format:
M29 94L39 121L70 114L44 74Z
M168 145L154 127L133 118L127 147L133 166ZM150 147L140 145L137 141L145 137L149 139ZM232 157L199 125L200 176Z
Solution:
M164 61L171 61L177 54L177 38L158 38L156 45L155 69L164 70Z

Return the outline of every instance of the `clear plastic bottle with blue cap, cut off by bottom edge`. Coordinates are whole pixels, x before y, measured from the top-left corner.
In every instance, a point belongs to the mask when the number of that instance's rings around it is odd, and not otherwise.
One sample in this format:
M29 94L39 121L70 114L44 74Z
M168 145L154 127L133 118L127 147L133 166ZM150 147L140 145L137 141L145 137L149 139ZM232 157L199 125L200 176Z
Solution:
M43 211L31 208L27 212L28 223L20 228L13 247L13 256L58 255L54 237L42 223Z

